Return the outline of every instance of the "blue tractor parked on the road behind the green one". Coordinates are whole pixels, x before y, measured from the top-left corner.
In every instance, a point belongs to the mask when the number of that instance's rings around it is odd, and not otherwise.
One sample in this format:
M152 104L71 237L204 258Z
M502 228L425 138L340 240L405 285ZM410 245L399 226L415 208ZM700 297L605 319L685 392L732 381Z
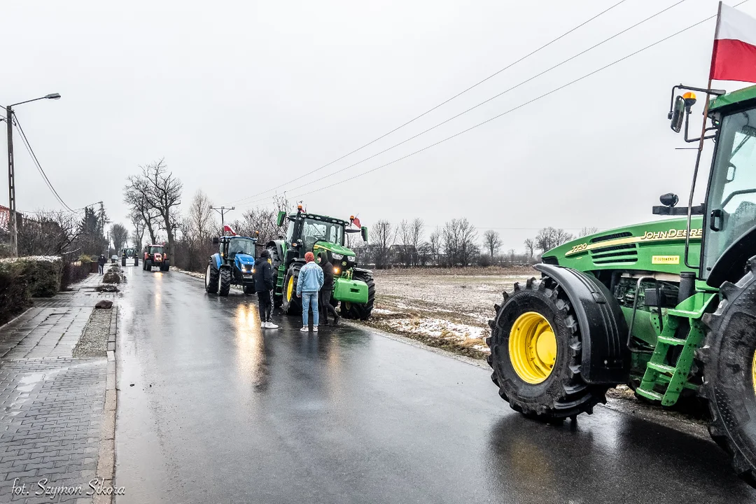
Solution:
M240 285L244 294L255 292L255 244L256 238L220 237L212 243L219 245L217 253L210 257L205 271L205 291L210 294L228 295L231 285Z

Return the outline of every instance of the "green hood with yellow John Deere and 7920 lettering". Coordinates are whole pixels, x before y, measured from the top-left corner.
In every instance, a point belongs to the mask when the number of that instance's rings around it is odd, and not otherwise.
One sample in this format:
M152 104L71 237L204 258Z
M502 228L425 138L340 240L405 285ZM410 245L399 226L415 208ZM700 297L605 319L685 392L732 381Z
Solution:
M578 271L642 270L679 274L683 261L686 218L671 218L601 231L544 252L543 261ZM702 218L690 223L690 254L700 254Z

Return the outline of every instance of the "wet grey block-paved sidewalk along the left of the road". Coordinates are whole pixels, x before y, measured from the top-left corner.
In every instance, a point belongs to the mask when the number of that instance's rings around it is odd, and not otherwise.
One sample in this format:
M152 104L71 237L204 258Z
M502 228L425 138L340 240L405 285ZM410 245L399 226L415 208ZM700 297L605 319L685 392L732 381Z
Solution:
M0 327L0 502L92 502L109 427L108 361L71 354L95 304L117 305L117 294L95 291L100 280L90 275L73 292L36 299ZM111 314L114 331L116 308ZM39 485L57 495L40 495Z

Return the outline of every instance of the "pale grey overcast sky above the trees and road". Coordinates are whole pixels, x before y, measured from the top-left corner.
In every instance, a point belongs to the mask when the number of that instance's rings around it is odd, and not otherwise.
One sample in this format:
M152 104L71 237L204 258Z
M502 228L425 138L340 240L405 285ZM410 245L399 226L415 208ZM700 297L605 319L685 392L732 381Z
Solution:
M0 103L17 107L42 166L72 208L103 200L126 223L122 189L165 158L239 218L255 196L429 110L618 0L505 2L4 2ZM339 175L643 20L677 0L626 0L381 141L290 190L376 168L503 113L716 14L687 0L617 39ZM733 5L733 2L727 2ZM740 9L756 16L756 2ZM668 191L687 199L695 151L670 130L671 86L705 86L714 20L417 155L303 196L311 212L370 226L466 217L503 249L544 226L652 220ZM732 90L739 83L715 83ZM700 114L699 101L695 112ZM696 116L699 117L699 116ZM17 207L60 208L16 141ZM708 167L708 165L707 165ZM0 204L8 204L6 178ZM279 191L280 191L279 190ZM246 200L245 200L246 199ZM700 199L700 198L699 198Z

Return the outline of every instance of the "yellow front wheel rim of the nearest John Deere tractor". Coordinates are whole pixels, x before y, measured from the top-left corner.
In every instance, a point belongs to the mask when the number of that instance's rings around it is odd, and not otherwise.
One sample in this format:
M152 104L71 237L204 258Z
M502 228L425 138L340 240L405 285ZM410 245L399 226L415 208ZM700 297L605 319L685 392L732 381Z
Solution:
M556 361L556 336L543 315L528 311L517 317L510 330L510 360L524 382L537 384L549 377Z

